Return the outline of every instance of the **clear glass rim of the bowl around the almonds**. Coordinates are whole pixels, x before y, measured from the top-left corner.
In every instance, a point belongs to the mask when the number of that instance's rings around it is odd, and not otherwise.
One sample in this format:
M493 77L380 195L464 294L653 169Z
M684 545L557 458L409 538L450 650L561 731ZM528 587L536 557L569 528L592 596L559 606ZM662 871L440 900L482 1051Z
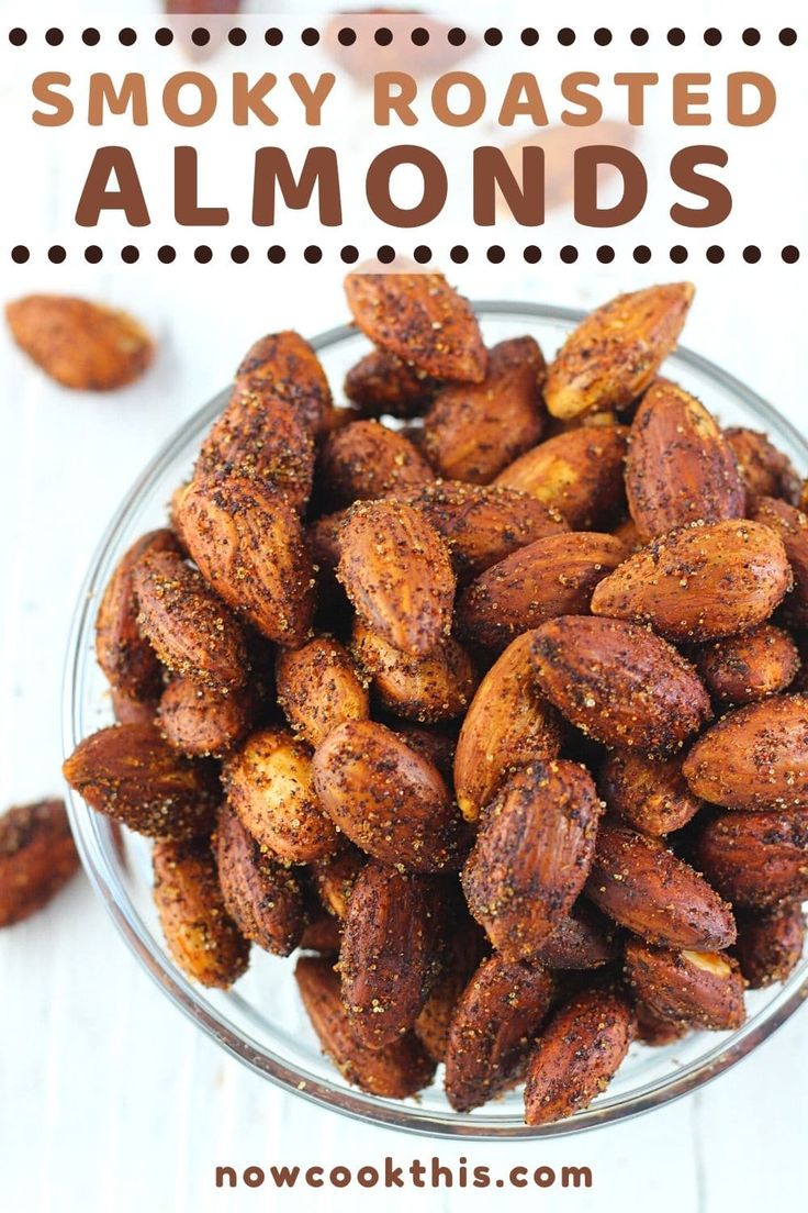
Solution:
M498 300L475 301L471 306L475 314L483 320L486 317L512 317L516 319L523 315L537 320L575 324L588 314L579 308ZM359 330L353 324L338 325L311 338L310 344L315 351L321 351L359 335ZM676 357L686 365L709 376L724 391L738 395L757 416L769 421L781 433L785 432L808 463L808 442L773 405L734 376L687 347L677 347ZM64 662L62 739L65 757L81 740L78 730L80 671L87 659L86 638L92 634L98 594L103 590L97 583L98 574L109 548L144 491L167 469L176 455L177 445L182 443L188 431L212 421L224 406L229 391L227 388L217 393L207 404L185 417L182 425L162 443L125 495L93 552L73 615ZM142 967L171 1002L227 1053L253 1072L269 1078L285 1090L302 1095L320 1107L340 1111L366 1124L397 1128L431 1138L514 1141L572 1137L604 1124L619 1123L674 1103L704 1087L747 1057L808 998L807 959L783 984L775 995L774 1006L768 1004L762 1008L730 1037L722 1038L715 1048L698 1060L684 1064L680 1074L653 1080L640 1092L617 1095L612 1099L607 1098L603 1103L597 1101L566 1121L545 1126L526 1126L517 1121L486 1118L485 1114L463 1116L449 1111L420 1111L417 1101L412 1104L383 1099L355 1088L339 1087L328 1081L321 1081L315 1075L305 1074L288 1065L279 1054L253 1041L218 1009L206 1006L195 987L183 976L173 962L153 946L151 933L108 864L102 836L105 828L110 828L109 821L101 814L93 813L70 787L67 788L67 804L79 854L96 895L104 904L115 927Z

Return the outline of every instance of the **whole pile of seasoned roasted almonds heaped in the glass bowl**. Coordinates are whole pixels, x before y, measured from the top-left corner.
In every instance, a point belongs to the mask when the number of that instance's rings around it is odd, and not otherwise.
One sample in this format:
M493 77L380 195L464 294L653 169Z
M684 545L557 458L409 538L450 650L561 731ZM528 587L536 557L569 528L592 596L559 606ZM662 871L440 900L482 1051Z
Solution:
M440 274L346 294L350 405L296 334L251 348L107 587L120 723L64 771L155 839L190 976L300 949L348 1081L403 1098L442 1063L459 1111L525 1081L540 1124L801 956L806 495L658 376L689 284L550 366L486 349Z

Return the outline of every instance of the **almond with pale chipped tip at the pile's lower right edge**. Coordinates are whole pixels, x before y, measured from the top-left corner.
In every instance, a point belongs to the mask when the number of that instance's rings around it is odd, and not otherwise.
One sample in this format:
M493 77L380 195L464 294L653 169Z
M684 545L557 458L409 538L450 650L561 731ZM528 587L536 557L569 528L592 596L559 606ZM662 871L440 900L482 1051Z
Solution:
M643 1006L659 1019L723 1032L740 1027L746 1018L744 979L729 956L630 939L625 972Z

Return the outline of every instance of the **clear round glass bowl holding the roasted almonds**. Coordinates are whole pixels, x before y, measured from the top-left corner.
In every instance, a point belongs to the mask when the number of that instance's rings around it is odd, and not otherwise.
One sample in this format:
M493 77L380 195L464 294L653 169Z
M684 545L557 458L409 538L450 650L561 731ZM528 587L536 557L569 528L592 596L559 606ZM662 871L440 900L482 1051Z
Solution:
M551 354L583 313L529 303L479 303L488 344L531 334ZM345 371L369 349L350 326L332 329L313 342L339 393ZM665 372L697 394L727 425L768 431L804 475L808 444L766 400L732 376L686 349ZM70 637L64 680L64 747L113 721L109 691L93 653L99 596L120 556L143 531L165 524L166 502L187 479L204 433L227 403L222 392L200 409L157 452L127 494L93 557ZM325 1058L297 996L293 961L252 950L248 973L234 990L193 985L167 955L151 902L150 844L118 830L69 795L70 820L85 867L127 945L164 993L233 1057L265 1078L316 1104L357 1120L447 1138L506 1140L556 1137L614 1123L695 1090L746 1057L808 996L808 961L783 985L747 996L749 1019L734 1032L697 1032L666 1048L635 1044L608 1090L569 1121L528 1128L520 1092L486 1107L458 1114L449 1107L439 1070L417 1099L395 1101L348 1086Z

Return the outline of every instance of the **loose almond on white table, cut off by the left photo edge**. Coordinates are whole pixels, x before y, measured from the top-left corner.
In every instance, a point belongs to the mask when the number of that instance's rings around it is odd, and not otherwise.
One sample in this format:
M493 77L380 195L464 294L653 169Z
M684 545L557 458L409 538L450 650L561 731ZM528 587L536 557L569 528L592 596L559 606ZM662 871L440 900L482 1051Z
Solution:
M0 927L46 906L79 871L63 801L19 804L0 816Z

